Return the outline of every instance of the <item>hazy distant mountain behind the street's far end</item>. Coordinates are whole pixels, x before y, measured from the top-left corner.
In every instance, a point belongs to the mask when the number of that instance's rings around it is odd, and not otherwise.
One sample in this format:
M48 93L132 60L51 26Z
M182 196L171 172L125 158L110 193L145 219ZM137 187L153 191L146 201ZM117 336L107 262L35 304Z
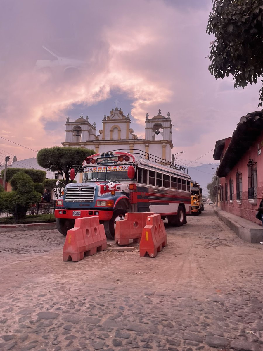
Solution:
M204 196L208 196L207 184L212 180L218 166L219 163L203 164L196 167L187 166L189 176L200 184Z

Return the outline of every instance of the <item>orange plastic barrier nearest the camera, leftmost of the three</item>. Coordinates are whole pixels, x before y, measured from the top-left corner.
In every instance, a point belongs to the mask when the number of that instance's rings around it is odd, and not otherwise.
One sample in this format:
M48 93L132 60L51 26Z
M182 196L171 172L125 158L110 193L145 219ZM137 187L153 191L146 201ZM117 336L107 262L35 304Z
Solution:
M92 256L97 251L107 247L107 238L99 217L83 217L75 220L75 226L67 232L63 247L63 261L77 262L86 256Z

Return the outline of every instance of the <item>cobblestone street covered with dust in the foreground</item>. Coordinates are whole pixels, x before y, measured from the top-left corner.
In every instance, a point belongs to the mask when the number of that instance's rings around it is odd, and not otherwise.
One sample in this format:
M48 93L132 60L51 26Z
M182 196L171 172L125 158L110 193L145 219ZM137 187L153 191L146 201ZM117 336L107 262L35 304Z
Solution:
M156 258L62 261L56 230L0 233L0 350L263 349L263 245L207 205Z

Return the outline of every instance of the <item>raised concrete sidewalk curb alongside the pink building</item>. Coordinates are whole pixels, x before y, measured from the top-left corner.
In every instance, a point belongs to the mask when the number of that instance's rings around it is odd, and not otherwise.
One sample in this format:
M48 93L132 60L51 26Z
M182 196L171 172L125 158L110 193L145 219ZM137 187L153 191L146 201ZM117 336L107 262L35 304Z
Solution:
M220 207L214 207L214 211L236 233L238 238L251 244L259 244L263 241L263 228L258 224L223 211Z

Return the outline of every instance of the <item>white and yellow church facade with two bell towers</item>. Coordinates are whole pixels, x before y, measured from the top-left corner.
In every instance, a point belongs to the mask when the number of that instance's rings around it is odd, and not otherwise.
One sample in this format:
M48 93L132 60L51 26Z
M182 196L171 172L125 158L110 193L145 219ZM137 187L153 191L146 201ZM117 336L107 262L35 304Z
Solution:
M127 116L124 115L119 107L113 108L108 116L104 115L99 132L96 130L96 123L90 123L88 116L84 118L83 113L74 122L70 122L67 117L66 141L61 144L86 147L95 150L95 153L123 149L133 153L134 150L141 150L171 161L173 126L169 112L167 117L164 117L160 110L153 118L149 118L148 113L146 114L145 139L138 139L130 123L129 113Z

